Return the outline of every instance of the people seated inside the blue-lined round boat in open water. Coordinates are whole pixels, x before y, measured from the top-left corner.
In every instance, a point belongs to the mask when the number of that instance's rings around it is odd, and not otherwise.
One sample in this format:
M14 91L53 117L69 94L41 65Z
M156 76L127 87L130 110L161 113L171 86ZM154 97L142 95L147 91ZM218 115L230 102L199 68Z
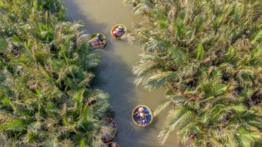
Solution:
M145 110L143 106L140 107L139 110L134 113L134 115L137 115L137 117L139 117L139 120L137 120L137 123L142 126L146 126L150 122L148 118L148 116L150 115L150 112L148 110Z

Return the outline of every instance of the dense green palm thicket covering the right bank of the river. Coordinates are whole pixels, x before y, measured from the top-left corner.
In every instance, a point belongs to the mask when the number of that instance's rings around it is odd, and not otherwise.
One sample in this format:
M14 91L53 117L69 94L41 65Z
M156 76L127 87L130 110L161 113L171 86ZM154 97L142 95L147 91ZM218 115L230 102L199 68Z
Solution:
M262 146L262 3L125 0L144 21L128 35L143 47L136 85L165 87L174 106L159 133L181 144Z

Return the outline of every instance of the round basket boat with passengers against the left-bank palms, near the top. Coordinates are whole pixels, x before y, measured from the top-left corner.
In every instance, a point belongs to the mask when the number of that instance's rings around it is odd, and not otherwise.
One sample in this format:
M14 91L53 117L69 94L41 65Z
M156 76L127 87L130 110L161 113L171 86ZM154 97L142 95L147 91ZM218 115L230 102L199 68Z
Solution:
M101 33L92 34L89 41L92 48L104 48L106 46L106 42L105 35Z

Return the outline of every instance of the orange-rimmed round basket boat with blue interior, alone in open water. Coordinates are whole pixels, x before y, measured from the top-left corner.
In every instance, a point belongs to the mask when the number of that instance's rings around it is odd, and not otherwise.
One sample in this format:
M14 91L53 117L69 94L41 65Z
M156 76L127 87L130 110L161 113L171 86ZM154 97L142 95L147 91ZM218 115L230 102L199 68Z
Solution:
M140 109L142 111L139 111ZM141 112L143 112L144 118L140 115ZM132 120L134 121L134 124L137 124L137 126L146 127L153 121L152 110L150 110L148 106L139 105L134 108L132 112Z

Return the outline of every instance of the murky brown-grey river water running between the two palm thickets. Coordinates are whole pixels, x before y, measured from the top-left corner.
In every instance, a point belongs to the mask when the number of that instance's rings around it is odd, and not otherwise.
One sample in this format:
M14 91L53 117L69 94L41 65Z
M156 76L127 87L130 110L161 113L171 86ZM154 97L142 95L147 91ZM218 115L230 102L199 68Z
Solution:
M108 92L110 104L115 112L117 122L117 141L122 147L155 147L160 146L157 135L165 120L168 109L161 112L150 126L140 128L132 122L131 113L135 106L143 104L151 109L165 101L164 90L148 91L134 86L132 66L139 61L141 48L129 45L110 37L112 26L118 23L132 31L132 23L143 21L142 16L133 16L130 6L123 6L122 0L63 0L66 3L66 14L72 21L81 20L90 34L103 33L108 45L103 54L101 65L97 68L99 88ZM166 147L178 147L177 135L170 134Z

